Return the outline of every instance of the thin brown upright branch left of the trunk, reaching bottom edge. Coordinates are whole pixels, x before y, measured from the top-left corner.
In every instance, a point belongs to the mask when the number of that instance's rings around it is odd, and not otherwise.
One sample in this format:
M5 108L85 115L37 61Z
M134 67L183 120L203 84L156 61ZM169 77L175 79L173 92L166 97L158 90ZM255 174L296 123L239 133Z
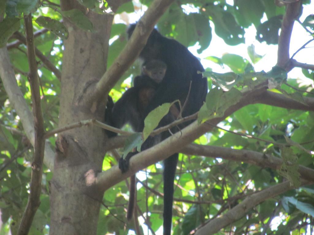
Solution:
M19 226L18 235L27 235L30 226L33 222L35 213L40 204L41 194L41 179L43 171L43 159L45 150L44 137L44 119L41 112L41 96L39 90L39 79L37 73L37 62L35 56L35 44L33 34L32 15L24 15L26 45L27 45L27 59L29 63L30 73L30 91L33 103L33 115L35 118L35 145L34 145L34 161L32 163L32 174L30 180L30 195L28 197L27 205L23 213L22 221Z

